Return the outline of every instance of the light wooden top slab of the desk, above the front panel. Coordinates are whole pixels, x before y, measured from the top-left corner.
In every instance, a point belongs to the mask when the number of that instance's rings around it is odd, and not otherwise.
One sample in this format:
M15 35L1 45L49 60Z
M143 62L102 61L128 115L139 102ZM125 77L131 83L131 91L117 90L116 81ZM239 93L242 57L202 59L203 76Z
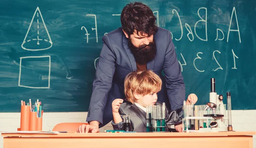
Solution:
M218 136L251 136L256 131L231 132L190 132L190 133L59 133L59 134L1 134L2 137L218 137Z

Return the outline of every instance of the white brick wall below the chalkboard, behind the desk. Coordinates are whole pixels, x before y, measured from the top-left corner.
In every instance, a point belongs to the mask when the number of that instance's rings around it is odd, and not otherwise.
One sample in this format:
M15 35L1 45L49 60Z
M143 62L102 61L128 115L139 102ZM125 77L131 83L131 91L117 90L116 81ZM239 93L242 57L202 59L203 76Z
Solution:
M86 122L87 112L46 112L44 113L43 131L63 122ZM232 123L235 131L256 131L256 110L233 110ZM0 131L17 131L20 127L20 113L0 113ZM100 128L100 132L112 129L111 124ZM3 148L3 137L0 137ZM253 136L253 148L256 148L256 136Z

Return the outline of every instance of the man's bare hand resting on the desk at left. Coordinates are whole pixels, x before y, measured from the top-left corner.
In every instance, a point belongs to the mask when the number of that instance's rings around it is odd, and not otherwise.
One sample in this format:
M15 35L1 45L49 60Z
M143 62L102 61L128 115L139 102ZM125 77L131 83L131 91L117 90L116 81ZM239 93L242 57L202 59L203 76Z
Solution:
M82 124L77 128L77 133L99 133L99 122L98 121L91 121L89 125Z

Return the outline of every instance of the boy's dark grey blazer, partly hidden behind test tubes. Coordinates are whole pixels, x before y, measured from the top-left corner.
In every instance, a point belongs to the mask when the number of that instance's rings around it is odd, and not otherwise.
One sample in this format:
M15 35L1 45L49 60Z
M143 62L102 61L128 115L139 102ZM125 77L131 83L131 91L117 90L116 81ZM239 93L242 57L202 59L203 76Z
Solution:
M161 102L157 101L155 105L162 105ZM122 103L119 107L119 114L123 119L123 115L130 115L131 126L133 131L146 132L146 112L137 107L135 104L130 102ZM166 108L166 125L178 125L182 123L183 109L176 109L174 111ZM123 122L114 123L111 122L114 130L122 130Z

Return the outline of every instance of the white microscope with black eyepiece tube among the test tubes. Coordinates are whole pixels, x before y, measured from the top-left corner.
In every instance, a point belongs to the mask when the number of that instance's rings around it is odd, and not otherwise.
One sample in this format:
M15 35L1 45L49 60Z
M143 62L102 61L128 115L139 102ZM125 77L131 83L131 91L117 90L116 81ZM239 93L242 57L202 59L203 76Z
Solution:
M204 110L212 109L212 114L204 114L204 117L212 117L215 119L210 123L212 131L227 131L227 125L224 120L227 120L226 109L223 104L223 95L218 95L215 92L215 78L211 78L211 91L209 93L210 101L207 103Z

